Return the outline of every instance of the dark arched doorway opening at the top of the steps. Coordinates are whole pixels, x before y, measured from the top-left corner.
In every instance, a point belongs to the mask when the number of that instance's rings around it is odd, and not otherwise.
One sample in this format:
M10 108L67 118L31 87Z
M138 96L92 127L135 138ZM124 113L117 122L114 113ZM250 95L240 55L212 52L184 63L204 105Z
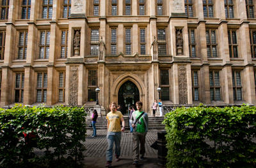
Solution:
M118 104L121 106L121 112L128 114L129 106L134 106L140 100L140 92L138 87L132 81L125 81L125 83L118 90Z

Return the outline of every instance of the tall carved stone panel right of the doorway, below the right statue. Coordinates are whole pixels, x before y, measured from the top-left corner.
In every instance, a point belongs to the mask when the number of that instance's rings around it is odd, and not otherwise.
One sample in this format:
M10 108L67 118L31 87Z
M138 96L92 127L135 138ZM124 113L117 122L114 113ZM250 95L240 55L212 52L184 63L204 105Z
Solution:
M186 76L186 66L179 66L179 102L180 104L188 104L188 85Z

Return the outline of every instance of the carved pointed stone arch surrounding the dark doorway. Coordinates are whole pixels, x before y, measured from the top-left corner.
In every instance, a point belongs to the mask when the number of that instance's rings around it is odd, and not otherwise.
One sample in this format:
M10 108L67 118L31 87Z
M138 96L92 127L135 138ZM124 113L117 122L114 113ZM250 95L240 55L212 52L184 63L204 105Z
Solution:
M111 100L118 102L118 91L120 87L125 83L125 81L131 81L138 87L138 90L140 92L140 101L143 103L145 102L145 93L146 93L146 87L143 83L143 81L132 73L125 73L122 76L119 76L113 83L113 86L111 87Z

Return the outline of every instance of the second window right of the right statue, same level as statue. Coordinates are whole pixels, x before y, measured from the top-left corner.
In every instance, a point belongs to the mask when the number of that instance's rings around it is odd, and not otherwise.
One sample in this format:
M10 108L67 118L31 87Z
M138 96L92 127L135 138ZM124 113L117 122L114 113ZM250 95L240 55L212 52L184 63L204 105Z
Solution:
M216 31L214 29L207 29L205 34L207 43L207 56L209 58L218 57Z

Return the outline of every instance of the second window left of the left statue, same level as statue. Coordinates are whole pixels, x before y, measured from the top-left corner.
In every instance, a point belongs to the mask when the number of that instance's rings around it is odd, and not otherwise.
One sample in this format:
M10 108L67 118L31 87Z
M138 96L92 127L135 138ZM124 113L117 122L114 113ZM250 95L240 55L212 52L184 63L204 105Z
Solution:
M50 31L41 31L39 48L39 59L49 59Z

